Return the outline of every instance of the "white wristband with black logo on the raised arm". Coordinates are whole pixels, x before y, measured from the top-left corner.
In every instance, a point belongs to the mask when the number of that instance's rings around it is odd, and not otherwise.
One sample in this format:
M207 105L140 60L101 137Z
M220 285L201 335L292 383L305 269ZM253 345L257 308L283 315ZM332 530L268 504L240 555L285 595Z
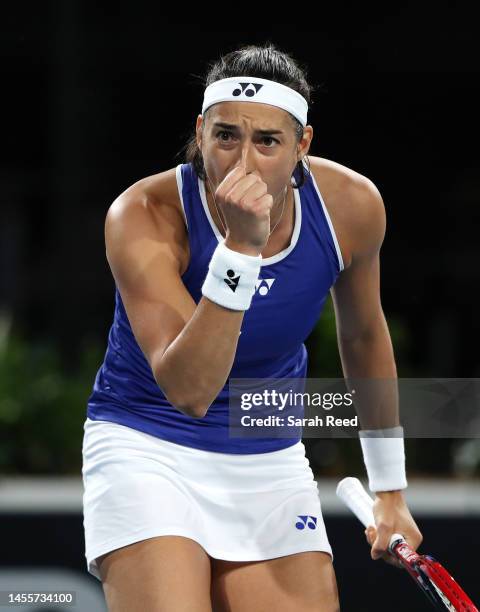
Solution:
M205 297L232 310L248 310L260 274L262 256L244 255L219 243L202 286Z

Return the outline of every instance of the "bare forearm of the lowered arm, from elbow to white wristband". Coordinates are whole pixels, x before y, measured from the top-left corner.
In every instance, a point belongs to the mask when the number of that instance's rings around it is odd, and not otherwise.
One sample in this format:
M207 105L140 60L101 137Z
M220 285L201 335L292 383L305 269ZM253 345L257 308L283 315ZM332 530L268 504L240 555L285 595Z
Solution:
M340 338L338 345L347 385L355 389L355 408L362 429L398 426L397 369L384 317L357 338Z

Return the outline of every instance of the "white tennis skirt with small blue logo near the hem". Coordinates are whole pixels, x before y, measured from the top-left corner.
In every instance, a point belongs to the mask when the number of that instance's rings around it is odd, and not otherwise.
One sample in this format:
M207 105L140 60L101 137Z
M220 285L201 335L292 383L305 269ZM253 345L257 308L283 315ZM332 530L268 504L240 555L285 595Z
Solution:
M122 546L161 535L213 558L260 561L319 550L332 556L305 447L217 453L107 421L85 422L83 510L88 571Z

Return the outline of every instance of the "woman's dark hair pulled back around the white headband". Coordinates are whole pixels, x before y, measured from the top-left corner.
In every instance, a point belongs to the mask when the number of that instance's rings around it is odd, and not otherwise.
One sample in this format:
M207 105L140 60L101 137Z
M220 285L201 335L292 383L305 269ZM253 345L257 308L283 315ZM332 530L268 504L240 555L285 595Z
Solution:
M272 43L265 46L249 45L227 55L209 65L206 76L203 78L204 87L208 87L215 81L236 76L252 76L261 79L276 81L298 91L309 106L311 104L312 87L307 83L306 71L287 53L277 49ZM208 110L206 111L208 113ZM295 125L295 132L298 141L303 136L301 123L289 113ZM198 148L195 131L190 136L187 144L183 147L185 151L185 161L192 163L195 172L201 179L205 179L205 167L203 165L202 152ZM309 162L306 156L308 170L300 160L293 172L295 176L294 188L302 187L305 183L306 172L308 173Z

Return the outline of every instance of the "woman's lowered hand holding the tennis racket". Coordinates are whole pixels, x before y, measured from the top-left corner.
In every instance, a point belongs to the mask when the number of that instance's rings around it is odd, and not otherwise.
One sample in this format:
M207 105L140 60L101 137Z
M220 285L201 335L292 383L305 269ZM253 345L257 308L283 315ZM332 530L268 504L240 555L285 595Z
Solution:
M383 559L395 567L402 567L389 552L388 545L394 533L403 535L414 550L420 546L423 536L405 503L402 491L386 491L375 494L373 516L376 527L367 527L365 536L371 545L371 557Z

